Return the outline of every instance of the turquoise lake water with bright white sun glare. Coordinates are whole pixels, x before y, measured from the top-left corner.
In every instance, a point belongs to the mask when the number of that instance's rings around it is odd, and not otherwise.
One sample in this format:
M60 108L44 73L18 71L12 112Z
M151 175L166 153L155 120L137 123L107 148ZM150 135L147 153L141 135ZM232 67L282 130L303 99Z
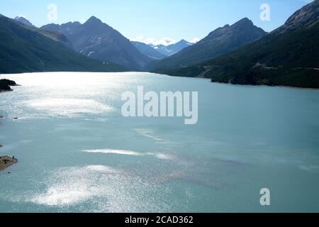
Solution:
M0 155L19 160L0 172L1 212L319 211L318 91L147 73L6 78L23 86L0 94ZM123 118L121 94L138 86L198 92L198 123Z

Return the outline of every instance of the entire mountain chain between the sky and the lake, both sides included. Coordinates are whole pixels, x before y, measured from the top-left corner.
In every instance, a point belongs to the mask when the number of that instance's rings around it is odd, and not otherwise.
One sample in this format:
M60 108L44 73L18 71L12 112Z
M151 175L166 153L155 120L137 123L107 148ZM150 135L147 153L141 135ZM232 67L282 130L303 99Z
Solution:
M272 33L243 18L195 44L130 41L94 16L83 24L41 28L23 17L0 16L0 72L138 70L213 82L319 87L318 1Z

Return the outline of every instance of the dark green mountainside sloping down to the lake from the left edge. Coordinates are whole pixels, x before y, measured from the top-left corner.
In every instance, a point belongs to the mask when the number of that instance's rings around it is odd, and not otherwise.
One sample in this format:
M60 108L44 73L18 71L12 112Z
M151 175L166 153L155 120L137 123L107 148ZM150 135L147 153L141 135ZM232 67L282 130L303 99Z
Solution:
M0 73L125 70L79 55L49 36L0 14Z

